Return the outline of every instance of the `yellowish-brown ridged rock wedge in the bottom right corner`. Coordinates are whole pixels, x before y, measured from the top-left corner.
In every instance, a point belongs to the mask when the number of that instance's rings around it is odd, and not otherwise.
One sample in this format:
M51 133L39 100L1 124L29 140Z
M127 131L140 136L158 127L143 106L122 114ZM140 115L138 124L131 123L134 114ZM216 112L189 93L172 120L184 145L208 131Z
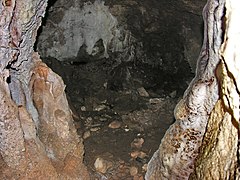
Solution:
M190 179L234 179L238 151L236 125L219 100L209 118L196 168Z

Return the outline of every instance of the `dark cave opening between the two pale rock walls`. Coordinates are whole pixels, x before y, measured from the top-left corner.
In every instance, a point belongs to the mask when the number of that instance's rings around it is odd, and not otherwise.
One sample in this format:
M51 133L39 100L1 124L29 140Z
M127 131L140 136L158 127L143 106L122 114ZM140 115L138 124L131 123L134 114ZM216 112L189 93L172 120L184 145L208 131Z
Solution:
M93 177L144 177L194 77L205 3L49 1L35 48L66 84Z

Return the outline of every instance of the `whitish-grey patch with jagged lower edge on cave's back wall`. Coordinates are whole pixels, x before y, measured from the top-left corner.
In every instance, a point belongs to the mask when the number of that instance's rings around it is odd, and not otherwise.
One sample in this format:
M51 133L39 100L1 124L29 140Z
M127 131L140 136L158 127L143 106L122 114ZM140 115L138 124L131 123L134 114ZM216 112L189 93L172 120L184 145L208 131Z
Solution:
M60 61L75 59L83 45L89 55L96 55L99 49L94 46L99 40L104 46L103 57L109 56L110 43L113 51L123 49L118 47L124 42L118 40L117 19L103 1L86 2L83 7L78 0L71 3L72 6L65 6L65 1L59 0L52 8L54 13L48 19L47 30L39 37L38 50L43 57L50 56Z

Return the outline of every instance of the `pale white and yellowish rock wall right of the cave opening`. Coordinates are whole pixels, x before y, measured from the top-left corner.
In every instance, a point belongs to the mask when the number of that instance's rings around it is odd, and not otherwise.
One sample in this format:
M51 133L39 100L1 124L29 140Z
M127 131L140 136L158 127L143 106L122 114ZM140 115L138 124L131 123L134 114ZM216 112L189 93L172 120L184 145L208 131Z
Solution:
M196 77L146 179L239 179L239 7L234 0L207 2Z

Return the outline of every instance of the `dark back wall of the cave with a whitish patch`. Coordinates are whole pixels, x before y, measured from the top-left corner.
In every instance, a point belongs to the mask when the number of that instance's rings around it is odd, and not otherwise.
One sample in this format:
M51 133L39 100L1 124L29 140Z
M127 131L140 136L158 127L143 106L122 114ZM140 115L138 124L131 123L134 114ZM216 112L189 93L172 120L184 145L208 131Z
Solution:
M39 32L43 58L140 62L195 71L206 1L55 1Z

